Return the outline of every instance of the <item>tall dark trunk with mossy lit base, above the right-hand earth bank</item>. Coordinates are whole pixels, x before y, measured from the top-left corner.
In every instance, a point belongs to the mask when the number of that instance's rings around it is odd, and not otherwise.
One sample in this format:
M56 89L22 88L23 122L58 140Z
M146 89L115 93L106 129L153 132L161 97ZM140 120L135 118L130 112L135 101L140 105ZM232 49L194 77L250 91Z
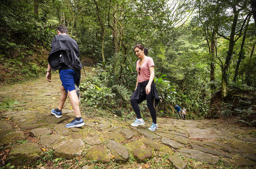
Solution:
M229 95L229 90L228 90L228 85L227 85L228 84L228 82L227 82L228 68L230 65L230 60L233 56L233 50L234 50L234 45L235 45L234 37L235 37L236 25L237 25L237 20L238 20L238 15L239 15L239 12L237 12L236 7L233 6L232 8L233 8L233 12L234 12L234 19L233 19L231 32L230 32L228 53L227 53L226 60L223 65L223 68L222 68L222 78L221 78L221 95L222 95L223 101L226 101L228 98L228 95Z

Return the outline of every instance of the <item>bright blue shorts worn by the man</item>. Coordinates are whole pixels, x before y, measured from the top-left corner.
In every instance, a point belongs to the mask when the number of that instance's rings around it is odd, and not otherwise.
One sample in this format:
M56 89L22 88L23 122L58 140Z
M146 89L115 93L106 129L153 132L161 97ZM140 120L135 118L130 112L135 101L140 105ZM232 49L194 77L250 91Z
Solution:
M72 69L60 70L59 71L60 80L62 82L62 86L68 93L68 91L76 90L75 82L78 78L76 72Z

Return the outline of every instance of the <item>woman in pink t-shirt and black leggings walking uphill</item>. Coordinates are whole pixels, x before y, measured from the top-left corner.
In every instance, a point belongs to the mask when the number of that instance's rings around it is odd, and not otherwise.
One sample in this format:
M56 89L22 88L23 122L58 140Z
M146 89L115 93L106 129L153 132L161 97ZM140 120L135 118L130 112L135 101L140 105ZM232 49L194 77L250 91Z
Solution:
M132 108L136 114L136 120L131 124L132 126L144 125L145 122L141 118L139 103L147 100L147 106L150 111L152 118L152 125L148 128L151 131L158 129L156 123L156 110L154 108L154 99L155 106L157 106L160 98L156 91L156 86L153 81L155 77L155 65L153 59L148 57L148 49L145 48L142 44L137 44L134 46L133 50L135 51L136 56L139 60L136 63L137 69L137 82L135 87L135 92L131 97Z

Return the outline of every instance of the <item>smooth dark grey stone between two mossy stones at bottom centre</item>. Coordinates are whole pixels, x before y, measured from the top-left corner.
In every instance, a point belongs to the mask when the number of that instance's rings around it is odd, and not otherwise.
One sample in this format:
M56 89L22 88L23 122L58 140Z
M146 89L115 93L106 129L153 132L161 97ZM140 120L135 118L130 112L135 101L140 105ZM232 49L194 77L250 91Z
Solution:
M119 142L108 140L106 146L110 149L111 153L115 156L117 162L125 163L129 158L129 150Z

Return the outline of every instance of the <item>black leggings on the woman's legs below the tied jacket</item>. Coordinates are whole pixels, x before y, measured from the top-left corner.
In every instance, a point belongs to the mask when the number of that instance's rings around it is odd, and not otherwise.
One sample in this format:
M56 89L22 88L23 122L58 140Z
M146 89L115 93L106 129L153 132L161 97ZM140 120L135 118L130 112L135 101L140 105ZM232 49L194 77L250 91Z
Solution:
M156 124L156 110L154 108L154 98L152 97L151 91L150 91L150 93L148 95L146 94L146 99L147 99L147 106L148 106L148 109L150 111L150 115L151 115L152 121L153 121L154 124ZM131 98L130 102L132 104L132 108L133 108L137 118L141 119L138 100L135 99L135 95L134 94L132 95L132 98Z

